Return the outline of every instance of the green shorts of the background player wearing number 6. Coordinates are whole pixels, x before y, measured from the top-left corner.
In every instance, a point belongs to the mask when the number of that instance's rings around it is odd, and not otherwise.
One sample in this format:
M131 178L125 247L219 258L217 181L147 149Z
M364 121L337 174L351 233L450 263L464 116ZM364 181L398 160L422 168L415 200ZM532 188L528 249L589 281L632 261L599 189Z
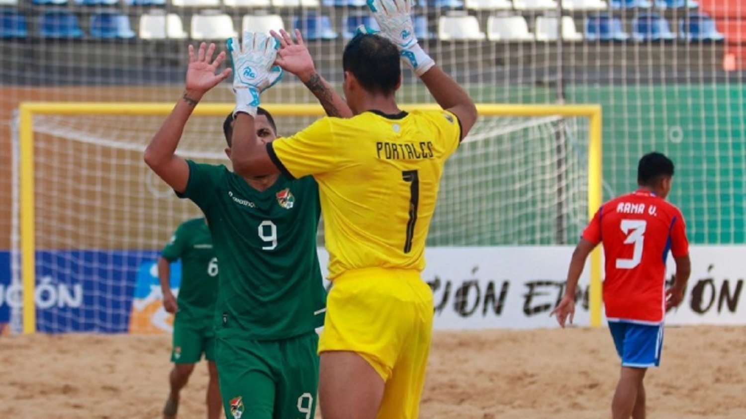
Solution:
M213 321L181 320L174 321L171 362L175 364L196 364L202 358L215 361L215 331Z

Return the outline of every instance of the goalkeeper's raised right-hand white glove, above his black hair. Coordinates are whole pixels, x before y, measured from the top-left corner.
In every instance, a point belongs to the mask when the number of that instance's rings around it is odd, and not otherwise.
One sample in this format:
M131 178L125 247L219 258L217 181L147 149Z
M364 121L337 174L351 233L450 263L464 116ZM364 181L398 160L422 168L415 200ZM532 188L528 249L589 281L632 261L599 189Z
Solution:
M380 35L394 42L399 54L419 77L435 65L417 42L412 23L413 0L367 0L373 17L380 26ZM368 31L371 33L371 31Z

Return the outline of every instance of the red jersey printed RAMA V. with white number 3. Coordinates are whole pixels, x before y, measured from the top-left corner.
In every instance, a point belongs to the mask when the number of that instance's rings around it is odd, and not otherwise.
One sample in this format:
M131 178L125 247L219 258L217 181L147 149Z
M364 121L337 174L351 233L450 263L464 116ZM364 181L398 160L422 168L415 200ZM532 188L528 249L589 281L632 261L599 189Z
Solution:
M644 190L622 195L598 209L583 239L604 245L606 318L662 323L668 251L689 253L680 210Z

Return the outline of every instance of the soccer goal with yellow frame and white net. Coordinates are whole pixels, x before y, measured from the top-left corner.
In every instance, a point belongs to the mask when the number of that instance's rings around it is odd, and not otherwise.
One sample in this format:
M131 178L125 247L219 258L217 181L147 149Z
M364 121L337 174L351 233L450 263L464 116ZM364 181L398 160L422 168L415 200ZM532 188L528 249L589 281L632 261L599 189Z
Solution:
M13 158L13 330L145 330L134 311L158 298L151 266L175 227L200 215L142 163L172 110L160 103L23 103ZM574 244L601 205L601 106L479 104L449 160L428 246ZM410 104L405 110L434 109ZM200 104L182 157L230 166L230 104ZM322 115L269 105L280 136ZM324 241L319 233L319 245ZM591 263L591 324L601 323L601 259ZM140 329L138 329L140 328Z

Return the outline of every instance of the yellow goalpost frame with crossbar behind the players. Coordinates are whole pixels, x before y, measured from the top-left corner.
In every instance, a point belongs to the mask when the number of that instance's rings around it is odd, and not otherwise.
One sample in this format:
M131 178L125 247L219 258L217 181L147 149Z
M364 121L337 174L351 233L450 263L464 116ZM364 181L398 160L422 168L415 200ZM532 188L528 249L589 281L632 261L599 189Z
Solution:
M409 104L404 110L440 109L436 104ZM20 142L20 242L23 289L23 333L35 333L37 324L34 303L36 261L34 243L34 116L35 115L107 115L165 116L173 109L168 103L95 103L95 102L25 102L19 105ZM225 116L232 104L200 104L195 116ZM274 116L322 116L317 104L269 104ZM575 117L588 119L588 217L592 218L602 204L601 105L598 104L477 104L482 116ZM590 260L590 324L601 325L601 253L596 249Z

